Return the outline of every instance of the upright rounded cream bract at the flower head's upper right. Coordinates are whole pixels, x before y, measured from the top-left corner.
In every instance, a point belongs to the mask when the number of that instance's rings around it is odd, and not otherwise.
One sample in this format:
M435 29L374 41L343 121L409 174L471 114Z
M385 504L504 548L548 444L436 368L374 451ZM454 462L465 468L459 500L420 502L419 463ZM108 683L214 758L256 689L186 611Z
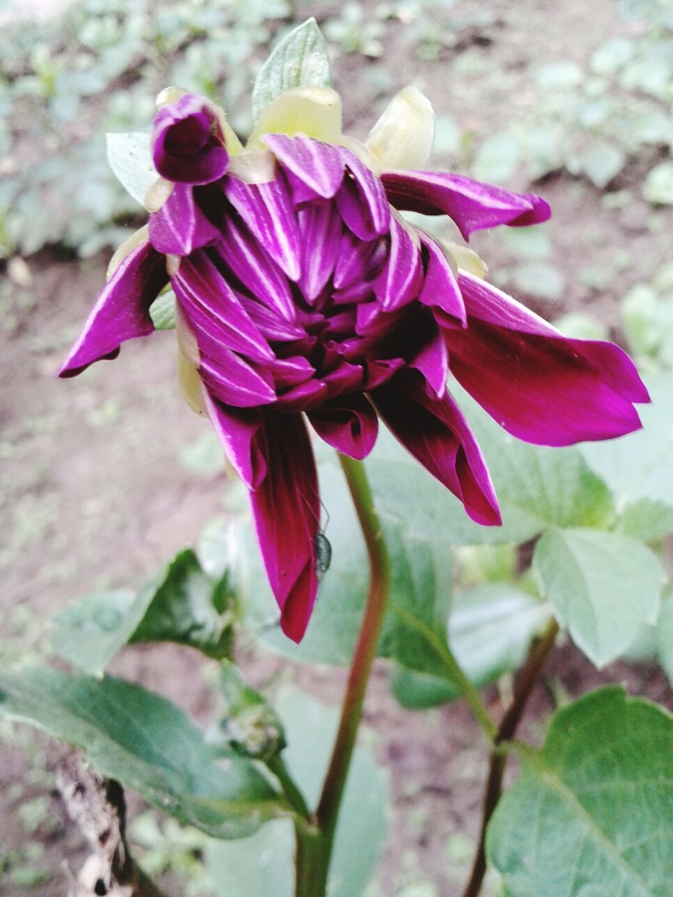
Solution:
M383 169L424 169L433 141L433 104L415 87L405 87L371 128L366 145Z

